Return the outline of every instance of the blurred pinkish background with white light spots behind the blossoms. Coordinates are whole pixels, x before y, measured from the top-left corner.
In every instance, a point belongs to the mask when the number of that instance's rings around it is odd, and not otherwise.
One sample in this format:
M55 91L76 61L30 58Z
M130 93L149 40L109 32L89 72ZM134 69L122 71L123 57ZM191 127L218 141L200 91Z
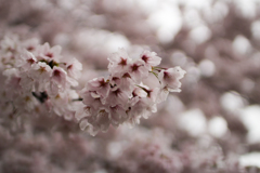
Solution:
M62 118L1 128L0 168L23 172L260 172L260 0L0 0L0 38L63 46L83 84L125 48L187 71L133 129L91 137Z

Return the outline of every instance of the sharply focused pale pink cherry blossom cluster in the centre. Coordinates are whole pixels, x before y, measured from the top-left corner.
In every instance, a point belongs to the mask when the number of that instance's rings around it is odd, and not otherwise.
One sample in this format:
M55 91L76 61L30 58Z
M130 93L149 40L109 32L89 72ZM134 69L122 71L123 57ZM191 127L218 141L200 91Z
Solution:
M160 68L161 58L144 51L138 58L128 56L123 49L108 56L109 76L90 80L81 90L81 108L76 112L81 130L95 135L109 125L134 125L141 118L157 111L157 104L166 101L169 92L180 92L185 75L180 67ZM151 76L152 75L152 76ZM155 76L159 85L148 88L144 81ZM157 81L155 81L157 82Z

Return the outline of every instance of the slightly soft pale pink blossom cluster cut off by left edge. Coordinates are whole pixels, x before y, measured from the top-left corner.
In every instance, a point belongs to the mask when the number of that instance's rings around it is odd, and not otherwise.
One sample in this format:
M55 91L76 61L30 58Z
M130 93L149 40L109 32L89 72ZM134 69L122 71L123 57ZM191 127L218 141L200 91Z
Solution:
M39 44L39 40L21 41L12 35L1 40L0 107L5 116L54 114L72 119L73 98L78 98L82 65L70 58L62 62L62 48ZM48 111L47 111L48 110Z

